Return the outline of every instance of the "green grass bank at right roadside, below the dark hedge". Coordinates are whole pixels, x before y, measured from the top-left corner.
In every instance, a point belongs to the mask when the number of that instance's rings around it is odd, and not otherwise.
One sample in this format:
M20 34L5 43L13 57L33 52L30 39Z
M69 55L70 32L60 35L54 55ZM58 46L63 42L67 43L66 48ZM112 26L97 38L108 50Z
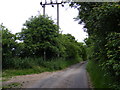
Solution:
M102 70L101 67L94 61L89 61L87 65L87 71L91 77L94 88L114 88L119 89L120 86L114 81L112 76L106 71Z

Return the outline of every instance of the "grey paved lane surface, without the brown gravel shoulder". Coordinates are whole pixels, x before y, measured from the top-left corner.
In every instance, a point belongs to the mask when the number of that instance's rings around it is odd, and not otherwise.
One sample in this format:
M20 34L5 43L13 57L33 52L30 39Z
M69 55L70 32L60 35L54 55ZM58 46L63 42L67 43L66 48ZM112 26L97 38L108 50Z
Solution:
M40 79L26 88L89 88L86 63L73 65L65 70Z

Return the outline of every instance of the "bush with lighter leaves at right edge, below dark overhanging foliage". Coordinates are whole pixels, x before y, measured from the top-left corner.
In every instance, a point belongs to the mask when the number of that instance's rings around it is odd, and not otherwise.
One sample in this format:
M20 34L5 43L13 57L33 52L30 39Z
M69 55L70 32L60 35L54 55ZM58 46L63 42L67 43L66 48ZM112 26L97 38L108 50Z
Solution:
M108 59L103 63L103 67L108 69L117 80L120 80L120 33L110 33L106 39Z

